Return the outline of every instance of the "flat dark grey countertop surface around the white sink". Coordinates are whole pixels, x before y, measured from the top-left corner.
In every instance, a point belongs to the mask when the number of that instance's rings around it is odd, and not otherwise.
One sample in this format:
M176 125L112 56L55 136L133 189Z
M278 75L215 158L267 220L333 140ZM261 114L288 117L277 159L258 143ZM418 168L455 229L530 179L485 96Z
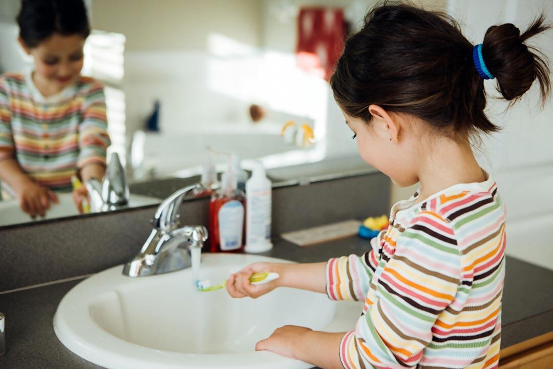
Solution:
M264 255L321 262L350 253L362 254L369 248L367 241L357 237L312 247L276 240L273 250ZM0 356L0 368L101 368L67 350L54 333L54 313L60 300L81 280L0 294L0 311L7 321L7 353ZM553 271L507 257L502 348L553 331L552 282Z

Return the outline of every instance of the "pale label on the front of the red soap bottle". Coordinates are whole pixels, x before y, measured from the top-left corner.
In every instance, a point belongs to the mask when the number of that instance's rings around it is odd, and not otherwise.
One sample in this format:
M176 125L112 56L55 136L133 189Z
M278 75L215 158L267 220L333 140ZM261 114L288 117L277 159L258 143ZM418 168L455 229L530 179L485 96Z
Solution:
M242 230L244 229L244 205L232 200L221 206L217 215L219 237L222 251L237 250L242 247Z

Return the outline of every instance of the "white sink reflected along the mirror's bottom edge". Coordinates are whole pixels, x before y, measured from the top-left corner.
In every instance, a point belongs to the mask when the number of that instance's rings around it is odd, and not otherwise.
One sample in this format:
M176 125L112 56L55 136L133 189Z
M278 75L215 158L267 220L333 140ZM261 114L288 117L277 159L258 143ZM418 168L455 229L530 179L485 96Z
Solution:
M44 217L36 217L34 220L28 214L25 214L19 207L17 200L0 201L0 226L27 223L45 219L54 219L65 216L79 215L79 211L71 198L71 194L57 193L59 204L51 203L50 209L46 211ZM129 207L159 204L161 200L150 198L148 196L131 194Z

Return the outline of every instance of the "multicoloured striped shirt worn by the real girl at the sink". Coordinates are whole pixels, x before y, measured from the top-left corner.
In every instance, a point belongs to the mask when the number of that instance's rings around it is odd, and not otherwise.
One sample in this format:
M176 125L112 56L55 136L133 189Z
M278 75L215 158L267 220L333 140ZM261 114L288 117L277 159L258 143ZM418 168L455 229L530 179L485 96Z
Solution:
M492 180L392 208L372 250L327 263L327 294L364 301L346 368L497 368L505 208Z

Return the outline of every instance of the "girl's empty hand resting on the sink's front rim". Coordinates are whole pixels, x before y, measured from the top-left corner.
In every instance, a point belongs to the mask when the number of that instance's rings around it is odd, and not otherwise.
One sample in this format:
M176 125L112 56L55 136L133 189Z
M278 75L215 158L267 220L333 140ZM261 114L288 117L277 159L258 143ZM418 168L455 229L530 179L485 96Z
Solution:
M285 325L273 332L266 340L257 342L255 351L272 351L275 354L301 360L296 352L301 342L307 339L311 329L297 325Z

